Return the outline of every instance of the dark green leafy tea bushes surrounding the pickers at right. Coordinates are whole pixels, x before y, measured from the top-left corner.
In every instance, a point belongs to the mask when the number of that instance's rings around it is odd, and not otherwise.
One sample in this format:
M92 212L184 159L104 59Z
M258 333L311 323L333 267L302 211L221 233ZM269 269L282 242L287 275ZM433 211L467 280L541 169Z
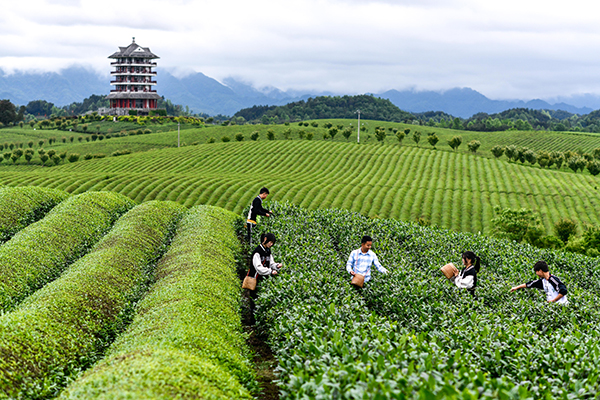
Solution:
M284 399L592 398L600 391L596 260L528 245L270 204L283 273L263 282L258 321L280 362ZM257 234L259 232L256 232ZM362 292L348 254L364 234L390 273ZM440 273L475 251L477 299ZM538 259L569 288L568 306L535 290Z

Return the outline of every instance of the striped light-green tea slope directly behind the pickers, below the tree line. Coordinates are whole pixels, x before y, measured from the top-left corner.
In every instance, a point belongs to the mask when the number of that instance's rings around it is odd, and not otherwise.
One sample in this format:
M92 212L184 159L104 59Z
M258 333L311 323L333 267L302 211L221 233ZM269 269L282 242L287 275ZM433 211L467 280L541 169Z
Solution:
M240 212L267 185L269 200L309 209L424 218L484 233L496 205L538 211L549 233L565 216L600 224L599 179L463 152L322 140L201 144L51 168L0 166L0 183L9 186L112 190L136 201L174 200Z

